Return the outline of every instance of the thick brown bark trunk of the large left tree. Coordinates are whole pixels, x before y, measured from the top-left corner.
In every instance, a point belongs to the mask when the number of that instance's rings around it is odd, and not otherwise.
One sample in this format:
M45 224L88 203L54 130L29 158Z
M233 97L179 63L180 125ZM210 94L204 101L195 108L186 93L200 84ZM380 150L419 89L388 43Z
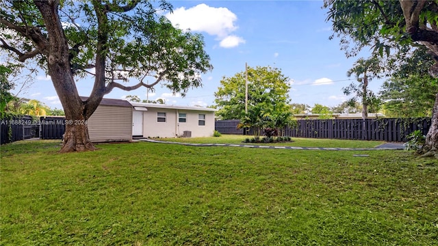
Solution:
M69 61L69 47L57 12L59 1L35 1L49 33L45 54L49 75L66 114L66 131L60 152L96 150L88 137L87 120L98 103L79 97Z

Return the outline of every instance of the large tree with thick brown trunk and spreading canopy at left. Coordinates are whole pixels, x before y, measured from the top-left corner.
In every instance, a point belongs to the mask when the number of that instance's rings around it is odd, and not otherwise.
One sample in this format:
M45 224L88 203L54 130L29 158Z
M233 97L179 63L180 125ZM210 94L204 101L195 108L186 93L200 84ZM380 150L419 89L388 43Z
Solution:
M86 122L114 88L129 91L161 82L184 95L201 86L201 74L212 68L203 36L173 27L162 15L172 5L163 0L2 4L0 49L47 71L66 120ZM94 85L82 101L75 79L87 74ZM62 152L94 149L86 125L66 126Z

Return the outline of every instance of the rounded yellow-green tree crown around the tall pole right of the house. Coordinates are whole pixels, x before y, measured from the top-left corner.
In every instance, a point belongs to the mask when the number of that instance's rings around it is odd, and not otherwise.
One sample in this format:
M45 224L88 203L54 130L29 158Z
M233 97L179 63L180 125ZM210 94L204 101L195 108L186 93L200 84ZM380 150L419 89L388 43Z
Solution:
M241 119L245 113L246 72L223 77L215 93L216 113L222 120ZM258 106L265 113L287 111L289 78L279 68L248 67L248 111Z

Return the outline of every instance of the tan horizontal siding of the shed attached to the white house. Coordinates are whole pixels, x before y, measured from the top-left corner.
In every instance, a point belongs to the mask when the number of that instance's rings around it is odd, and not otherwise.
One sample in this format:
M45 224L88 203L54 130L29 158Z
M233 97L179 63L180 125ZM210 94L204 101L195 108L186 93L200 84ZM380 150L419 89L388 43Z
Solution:
M131 141L132 107L99 105L88 119L92 142Z

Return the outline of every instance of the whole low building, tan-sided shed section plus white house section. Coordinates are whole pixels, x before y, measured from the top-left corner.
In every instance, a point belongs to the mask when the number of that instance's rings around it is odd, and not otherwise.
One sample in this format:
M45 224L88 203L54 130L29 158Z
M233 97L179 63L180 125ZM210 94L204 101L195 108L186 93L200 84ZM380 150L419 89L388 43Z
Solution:
M88 134L92 142L131 141L133 137L209 137L214 133L215 111L103 98L88 119Z

